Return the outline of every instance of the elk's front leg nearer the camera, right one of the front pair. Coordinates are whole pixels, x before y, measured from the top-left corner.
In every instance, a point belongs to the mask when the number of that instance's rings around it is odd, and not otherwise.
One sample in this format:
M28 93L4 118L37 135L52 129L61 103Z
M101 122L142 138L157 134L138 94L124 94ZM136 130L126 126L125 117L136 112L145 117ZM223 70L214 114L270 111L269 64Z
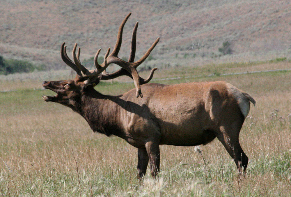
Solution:
M160 148L156 142L147 142L145 144L148 157L150 159L150 173L156 177L160 171Z

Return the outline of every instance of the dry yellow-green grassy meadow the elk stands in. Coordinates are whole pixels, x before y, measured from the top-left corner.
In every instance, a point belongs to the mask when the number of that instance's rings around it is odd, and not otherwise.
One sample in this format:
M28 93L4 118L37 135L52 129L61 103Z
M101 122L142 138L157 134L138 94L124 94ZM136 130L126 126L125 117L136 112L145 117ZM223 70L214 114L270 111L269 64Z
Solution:
M43 101L42 95L55 93L41 90L42 81L72 78L69 71L0 76L0 196L291 196L291 71L223 75L274 69L290 69L290 63L176 67L157 70L152 80L222 80L255 98L239 138L249 157L240 181L217 139L200 147L202 155L194 147L161 145L158 178L148 170L138 181L136 148L93 133L70 108ZM96 89L121 94L134 88L126 81L102 82Z

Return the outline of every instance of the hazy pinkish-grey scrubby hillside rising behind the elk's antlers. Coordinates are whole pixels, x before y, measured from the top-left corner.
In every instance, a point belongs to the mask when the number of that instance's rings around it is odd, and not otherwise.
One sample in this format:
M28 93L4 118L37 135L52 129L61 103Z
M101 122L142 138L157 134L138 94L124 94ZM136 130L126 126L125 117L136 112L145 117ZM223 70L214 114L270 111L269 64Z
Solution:
M127 13L120 57L128 56L131 32L139 21L137 56L160 37L156 66L194 66L205 62L290 58L289 1L1 1L0 52L50 68L65 68L59 56L63 41L82 48L88 59L113 47ZM219 48L229 41L233 54ZM188 58L187 61L180 61Z

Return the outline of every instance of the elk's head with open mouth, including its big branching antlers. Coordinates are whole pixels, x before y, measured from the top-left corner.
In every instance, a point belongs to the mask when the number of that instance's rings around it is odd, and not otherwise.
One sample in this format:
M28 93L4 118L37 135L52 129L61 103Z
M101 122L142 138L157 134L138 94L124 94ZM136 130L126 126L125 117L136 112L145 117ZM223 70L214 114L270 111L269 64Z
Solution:
M110 48L107 50L105 56L104 56L104 62L100 65L98 64L98 55L100 53L99 49L94 57L94 65L95 69L88 70L85 68L80 61L80 48L78 48L77 55L77 43L74 45L72 55L73 55L73 61L68 57L66 52L66 46L65 43L61 46L61 58L62 60L70 66L74 71L77 72L77 76L74 80L65 80L65 81L44 81L42 83L42 86L44 88L47 88L49 90L52 90L57 93L56 96L43 96L43 99L45 101L53 101L57 103L61 103L64 105L69 105L70 102L72 102L72 97L82 94L84 91L88 90L90 91L91 88L93 88L95 85L97 85L100 80L109 80L114 79L118 76L126 75L131 77L134 80L134 85L136 87L136 97L143 97L143 94L141 93L141 84L148 83L154 74L154 71L157 70L157 68L153 68L150 72L150 75L147 79L143 79L139 76L136 68L145 61L145 59L149 56L150 52L153 50L153 48L156 46L156 44L159 41L159 38L156 39L156 41L152 44L152 46L148 49L148 51L139 59L138 61L134 62L135 57L135 50L136 50L136 30L138 27L138 22L136 22L134 26L134 30L132 33L132 40L131 40L131 49L130 49L130 55L128 61L124 61L120 58L118 58L118 52L120 50L121 42L122 42L122 32L123 27L129 18L131 13L129 13L125 19L122 21L118 34L117 34L117 40L116 44L114 46L113 51L109 54ZM121 68L113 73L107 73L106 68L110 64L117 64Z

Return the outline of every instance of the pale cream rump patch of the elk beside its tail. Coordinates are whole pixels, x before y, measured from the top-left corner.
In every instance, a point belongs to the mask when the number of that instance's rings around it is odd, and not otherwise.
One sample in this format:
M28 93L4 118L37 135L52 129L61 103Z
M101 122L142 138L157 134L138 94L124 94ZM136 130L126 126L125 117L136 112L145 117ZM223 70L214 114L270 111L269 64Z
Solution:
M242 94L242 92L238 88L234 87L233 85L227 83L226 87L228 89L228 92L233 94L233 96L237 100L237 103L240 107L240 111L242 112L242 115L244 115L244 118L246 118L246 116L249 114L249 111L250 111L249 99L246 98L246 96L244 96L244 94Z

